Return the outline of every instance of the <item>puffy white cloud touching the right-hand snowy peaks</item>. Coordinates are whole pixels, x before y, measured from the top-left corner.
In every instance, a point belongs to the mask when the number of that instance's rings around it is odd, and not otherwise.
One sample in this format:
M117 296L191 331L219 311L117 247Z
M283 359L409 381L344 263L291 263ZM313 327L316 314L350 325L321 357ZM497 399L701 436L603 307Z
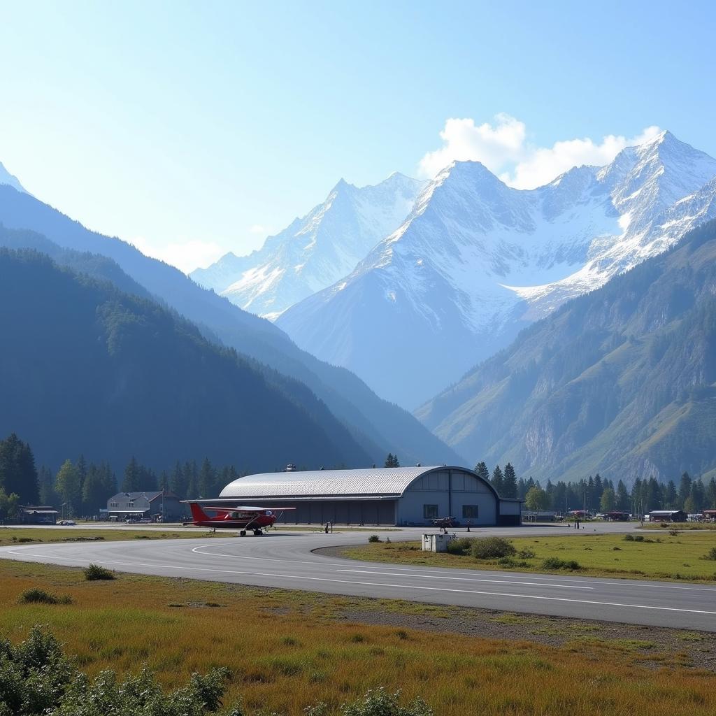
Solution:
M476 126L472 119L449 119L440 132L442 147L420 160L420 173L434 176L453 161L482 162L505 184L533 189L551 182L572 167L608 164L630 145L645 142L659 133L647 127L637 137L607 135L601 142L589 137L539 147L526 141L526 126L510 115L496 115L494 124Z

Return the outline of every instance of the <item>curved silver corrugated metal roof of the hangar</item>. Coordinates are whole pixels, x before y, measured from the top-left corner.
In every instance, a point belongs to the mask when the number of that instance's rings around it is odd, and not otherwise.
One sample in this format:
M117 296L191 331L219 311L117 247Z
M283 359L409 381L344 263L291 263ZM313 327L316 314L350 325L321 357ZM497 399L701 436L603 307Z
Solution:
M420 475L438 467L369 468L367 470L296 470L238 478L221 490L222 498L297 495L402 495ZM464 469L464 468L463 468Z

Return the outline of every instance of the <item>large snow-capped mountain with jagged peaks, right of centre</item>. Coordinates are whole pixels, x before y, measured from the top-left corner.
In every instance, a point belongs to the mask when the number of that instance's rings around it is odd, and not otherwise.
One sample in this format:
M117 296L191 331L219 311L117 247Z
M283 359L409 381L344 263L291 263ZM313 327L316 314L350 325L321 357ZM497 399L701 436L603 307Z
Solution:
M455 162L350 274L276 323L416 407L532 321L716 216L715 177L715 159L669 132L533 190Z

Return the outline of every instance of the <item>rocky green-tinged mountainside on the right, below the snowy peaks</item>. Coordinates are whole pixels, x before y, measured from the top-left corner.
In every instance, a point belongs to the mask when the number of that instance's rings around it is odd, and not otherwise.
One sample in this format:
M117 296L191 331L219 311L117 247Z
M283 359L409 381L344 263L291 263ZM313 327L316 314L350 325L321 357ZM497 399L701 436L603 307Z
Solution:
M536 322L418 415L472 460L535 478L716 470L716 221Z

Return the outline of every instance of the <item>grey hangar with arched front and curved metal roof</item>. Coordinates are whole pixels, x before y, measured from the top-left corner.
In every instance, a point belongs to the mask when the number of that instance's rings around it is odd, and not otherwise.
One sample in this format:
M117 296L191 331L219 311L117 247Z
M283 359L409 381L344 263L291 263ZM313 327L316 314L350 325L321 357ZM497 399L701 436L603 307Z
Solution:
M463 525L519 525L523 502L500 498L473 470L447 465L247 475L226 485L218 501L279 512L295 508L281 515L281 523L395 526L430 525L448 516Z

